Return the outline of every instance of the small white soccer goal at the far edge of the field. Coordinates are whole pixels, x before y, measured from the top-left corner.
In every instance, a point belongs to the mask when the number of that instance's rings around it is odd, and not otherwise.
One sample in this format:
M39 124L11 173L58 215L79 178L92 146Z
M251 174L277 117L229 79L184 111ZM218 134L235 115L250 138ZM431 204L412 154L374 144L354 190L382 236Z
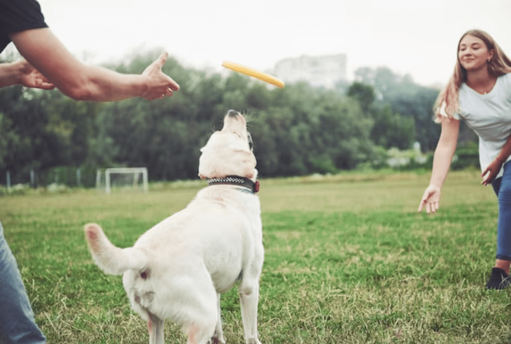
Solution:
M96 172L96 188L110 193L112 189L149 191L146 167L115 167L98 169Z

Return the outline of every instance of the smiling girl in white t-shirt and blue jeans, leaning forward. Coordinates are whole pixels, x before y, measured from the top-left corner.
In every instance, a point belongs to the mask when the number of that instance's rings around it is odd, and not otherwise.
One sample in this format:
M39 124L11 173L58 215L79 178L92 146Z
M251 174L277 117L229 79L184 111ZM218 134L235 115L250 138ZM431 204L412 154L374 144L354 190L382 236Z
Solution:
M461 36L454 73L438 95L434 113L442 133L419 212L424 207L427 213L438 210L462 118L479 136L481 184L492 184L499 200L497 257L486 287L503 289L511 284L511 61L489 34L471 30Z

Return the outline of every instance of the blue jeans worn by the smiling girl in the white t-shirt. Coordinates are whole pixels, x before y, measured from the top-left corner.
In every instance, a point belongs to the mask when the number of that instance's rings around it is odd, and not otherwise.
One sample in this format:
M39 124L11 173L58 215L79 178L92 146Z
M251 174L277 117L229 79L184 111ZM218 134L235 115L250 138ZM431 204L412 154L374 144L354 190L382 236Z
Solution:
M504 175L492 182L499 198L497 259L511 260L511 161L504 165Z

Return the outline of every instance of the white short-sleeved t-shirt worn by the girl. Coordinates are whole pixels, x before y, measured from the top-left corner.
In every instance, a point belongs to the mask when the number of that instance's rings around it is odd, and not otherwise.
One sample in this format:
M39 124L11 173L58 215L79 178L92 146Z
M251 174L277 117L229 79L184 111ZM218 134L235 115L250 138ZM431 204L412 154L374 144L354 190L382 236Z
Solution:
M497 78L493 89L480 94L463 83L459 87L459 116L479 136L479 162L483 171L500 153L511 135L511 73ZM506 160L511 160L509 156ZM497 177L501 177L504 164Z

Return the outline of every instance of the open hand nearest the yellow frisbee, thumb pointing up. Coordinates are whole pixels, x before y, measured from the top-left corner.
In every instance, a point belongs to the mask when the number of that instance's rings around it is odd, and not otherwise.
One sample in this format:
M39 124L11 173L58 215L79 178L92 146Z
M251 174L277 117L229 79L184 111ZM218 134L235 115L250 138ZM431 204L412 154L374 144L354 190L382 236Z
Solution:
M162 53L142 73L143 76L148 77L148 89L142 96L149 101L171 96L173 91L179 90L179 85L161 71L168 57L169 54Z

